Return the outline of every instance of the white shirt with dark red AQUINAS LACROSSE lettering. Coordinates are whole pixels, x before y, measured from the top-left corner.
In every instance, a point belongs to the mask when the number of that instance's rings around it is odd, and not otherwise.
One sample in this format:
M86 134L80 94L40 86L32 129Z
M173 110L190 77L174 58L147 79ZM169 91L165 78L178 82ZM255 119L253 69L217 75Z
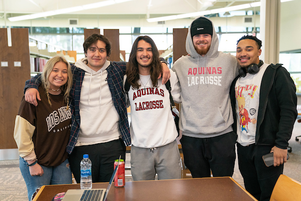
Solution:
M162 79L153 87L150 75L139 75L141 86L129 88L130 136L135 147L155 148L167 145L178 137L174 116L171 112L170 95ZM125 80L125 78L124 78ZM142 82L142 83L141 83ZM170 77L172 96L180 102L180 84L175 72ZM145 90L144 90L145 87Z

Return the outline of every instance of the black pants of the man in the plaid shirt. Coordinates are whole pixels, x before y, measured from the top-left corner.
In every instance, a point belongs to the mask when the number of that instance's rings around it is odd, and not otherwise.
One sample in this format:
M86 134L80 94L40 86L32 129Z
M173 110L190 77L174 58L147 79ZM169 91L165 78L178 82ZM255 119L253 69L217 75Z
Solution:
M92 182L108 182L114 171L114 160L125 161L125 144L122 139L110 142L74 147L69 155L71 171L77 183L80 183L80 161L89 154L92 162Z

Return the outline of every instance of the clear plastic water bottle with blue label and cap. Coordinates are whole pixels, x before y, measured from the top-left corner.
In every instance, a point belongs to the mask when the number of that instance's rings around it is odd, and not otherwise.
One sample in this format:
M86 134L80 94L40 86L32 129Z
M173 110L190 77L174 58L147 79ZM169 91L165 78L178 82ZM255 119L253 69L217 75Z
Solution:
M80 161L80 188L92 188L92 162L88 154L84 154L83 159Z

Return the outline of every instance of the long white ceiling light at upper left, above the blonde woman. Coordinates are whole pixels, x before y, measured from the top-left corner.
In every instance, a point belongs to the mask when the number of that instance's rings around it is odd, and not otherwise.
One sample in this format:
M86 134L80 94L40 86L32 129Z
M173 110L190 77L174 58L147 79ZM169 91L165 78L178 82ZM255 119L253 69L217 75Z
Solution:
M18 16L18 17L11 17L8 18L11 22L16 22L16 21L22 21L22 20L31 20L31 19L36 19L36 18L43 18L43 17L48 17L48 16L55 16L59 14L65 14L65 13L72 13L72 12L77 12L77 11L84 11L84 10L89 10L89 9L97 9L100 7L106 7L114 4L120 4L124 2L129 2L133 0L107 0L103 2L97 2L93 4L86 4L82 6L77 6L77 7L71 7L71 8L66 8L66 9L58 9L54 11L47 11L43 13L36 13L36 14L30 14L30 15L24 15L24 16Z

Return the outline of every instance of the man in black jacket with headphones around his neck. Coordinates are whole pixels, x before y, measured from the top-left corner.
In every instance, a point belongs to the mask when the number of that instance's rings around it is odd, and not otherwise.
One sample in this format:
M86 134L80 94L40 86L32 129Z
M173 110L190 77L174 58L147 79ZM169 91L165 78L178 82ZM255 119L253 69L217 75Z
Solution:
M261 41L253 36L238 40L240 75L233 80L230 95L245 188L258 200L269 200L286 162L297 117L297 97L295 84L284 67L259 60L260 47ZM270 152L274 160L267 167L262 156Z

